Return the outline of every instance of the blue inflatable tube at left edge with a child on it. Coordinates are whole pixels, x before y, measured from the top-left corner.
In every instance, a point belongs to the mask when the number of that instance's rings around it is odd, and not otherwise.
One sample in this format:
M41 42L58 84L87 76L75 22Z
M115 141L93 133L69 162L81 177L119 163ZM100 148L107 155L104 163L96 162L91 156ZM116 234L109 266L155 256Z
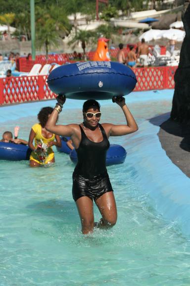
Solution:
M29 160L31 152L27 145L0 142L0 160Z

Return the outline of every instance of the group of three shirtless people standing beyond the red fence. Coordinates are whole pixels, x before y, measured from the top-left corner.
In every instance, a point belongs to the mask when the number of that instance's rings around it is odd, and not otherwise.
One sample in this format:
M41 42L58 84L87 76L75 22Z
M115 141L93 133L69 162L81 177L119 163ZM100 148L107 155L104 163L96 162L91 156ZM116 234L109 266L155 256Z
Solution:
M134 48L134 45L129 47L129 52L127 56L123 50L124 45L122 43L119 44L119 51L117 54L117 61L121 64L127 65L131 69L135 68L137 65L141 67L148 66L148 54L149 47L145 43L145 40L142 39L141 42L138 43L137 48Z

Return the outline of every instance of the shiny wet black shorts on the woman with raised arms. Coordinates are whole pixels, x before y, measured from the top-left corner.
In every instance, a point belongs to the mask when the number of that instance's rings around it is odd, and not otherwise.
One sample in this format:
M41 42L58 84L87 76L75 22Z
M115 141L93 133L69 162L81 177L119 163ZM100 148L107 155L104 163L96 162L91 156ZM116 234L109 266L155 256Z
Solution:
M96 199L104 193L112 192L112 186L107 173L94 176L91 179L73 173L73 199L76 202L81 197Z

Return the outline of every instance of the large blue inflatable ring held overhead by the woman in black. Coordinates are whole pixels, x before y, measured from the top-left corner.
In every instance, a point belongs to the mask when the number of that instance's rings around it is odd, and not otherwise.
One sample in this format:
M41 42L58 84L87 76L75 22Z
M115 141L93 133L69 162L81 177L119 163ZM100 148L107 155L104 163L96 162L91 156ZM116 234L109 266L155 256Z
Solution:
M127 95L137 83L135 73L117 62L78 62L51 71L49 88L72 99L109 99Z

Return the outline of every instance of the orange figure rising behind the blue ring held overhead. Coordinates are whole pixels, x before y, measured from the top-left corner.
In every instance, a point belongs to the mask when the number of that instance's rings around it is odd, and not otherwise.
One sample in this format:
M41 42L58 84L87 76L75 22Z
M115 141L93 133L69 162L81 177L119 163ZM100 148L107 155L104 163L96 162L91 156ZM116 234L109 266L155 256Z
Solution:
M93 61L110 61L107 42L109 39L99 38Z

